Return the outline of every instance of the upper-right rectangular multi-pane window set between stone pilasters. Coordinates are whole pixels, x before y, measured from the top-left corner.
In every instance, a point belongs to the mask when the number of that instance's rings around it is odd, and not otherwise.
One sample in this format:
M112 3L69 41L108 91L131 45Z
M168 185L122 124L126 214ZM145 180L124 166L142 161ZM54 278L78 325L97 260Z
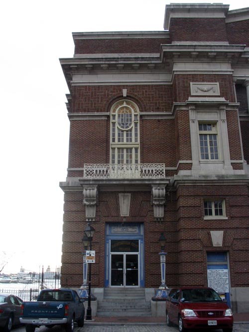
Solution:
M199 137L201 159L219 159L218 132L216 123L199 123Z

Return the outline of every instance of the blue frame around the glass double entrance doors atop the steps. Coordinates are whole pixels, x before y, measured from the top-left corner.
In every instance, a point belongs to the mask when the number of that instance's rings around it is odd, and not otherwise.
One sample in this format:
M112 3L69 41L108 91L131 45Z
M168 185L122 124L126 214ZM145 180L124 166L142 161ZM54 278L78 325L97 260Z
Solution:
M111 287L111 240L139 240L139 286L144 287L143 223L107 223L105 245L105 287ZM126 253L130 253L127 251ZM127 286L128 287L128 286Z

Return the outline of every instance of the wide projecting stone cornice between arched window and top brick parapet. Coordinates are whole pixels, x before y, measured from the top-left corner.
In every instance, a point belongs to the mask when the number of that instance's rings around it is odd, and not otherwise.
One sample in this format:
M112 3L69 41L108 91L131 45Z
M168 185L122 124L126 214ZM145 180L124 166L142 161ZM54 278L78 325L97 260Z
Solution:
M233 66L248 65L245 51L248 53L245 45L225 42L181 42L161 45L160 54L89 54L60 59L60 63L69 90L72 85L167 84L176 71L232 75Z

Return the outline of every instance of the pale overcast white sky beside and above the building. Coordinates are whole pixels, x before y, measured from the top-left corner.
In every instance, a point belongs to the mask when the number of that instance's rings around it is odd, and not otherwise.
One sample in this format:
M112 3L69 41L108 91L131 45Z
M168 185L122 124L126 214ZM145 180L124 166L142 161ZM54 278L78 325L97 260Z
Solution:
M177 1L171 1L177 2ZM181 3L208 2L182 0ZM4 273L60 266L72 32L163 30L166 0L5 0L0 4L0 254ZM230 10L246 1L231 0ZM1 259L1 257L0 257Z

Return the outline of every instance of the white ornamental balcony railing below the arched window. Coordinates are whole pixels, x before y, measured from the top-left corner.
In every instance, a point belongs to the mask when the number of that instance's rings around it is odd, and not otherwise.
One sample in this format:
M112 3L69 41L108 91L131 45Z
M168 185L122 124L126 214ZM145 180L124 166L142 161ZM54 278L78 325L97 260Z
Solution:
M84 179L162 179L165 164L85 164Z

